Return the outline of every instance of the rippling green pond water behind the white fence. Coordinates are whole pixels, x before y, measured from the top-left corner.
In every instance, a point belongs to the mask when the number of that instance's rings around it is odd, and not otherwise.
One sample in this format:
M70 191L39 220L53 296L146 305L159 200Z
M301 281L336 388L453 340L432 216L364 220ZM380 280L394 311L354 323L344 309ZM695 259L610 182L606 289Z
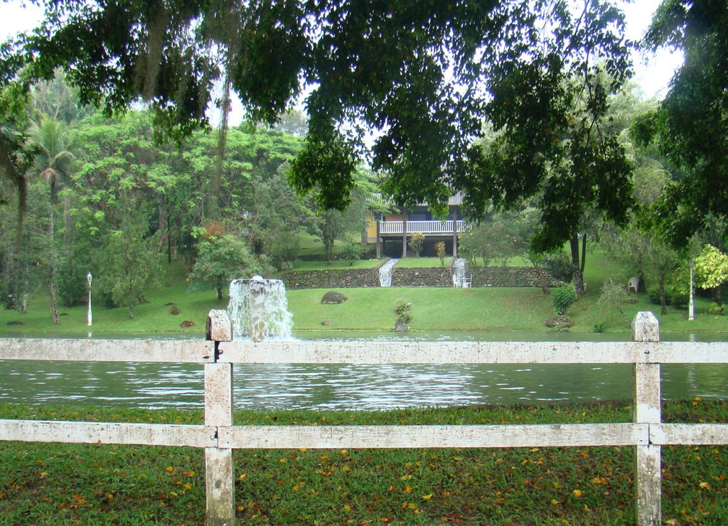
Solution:
M628 335L569 333L504 336L488 334L487 339L628 339ZM720 337L662 338L705 341ZM360 338L390 339L357 334ZM448 340L486 338L482 333L457 333L400 339L441 340L446 345ZM381 410L622 400L631 397L632 380L631 366L625 364L236 364L234 392L237 408ZM202 366L198 364L0 361L0 403L201 408L203 394ZM728 398L728 364L665 365L662 396Z

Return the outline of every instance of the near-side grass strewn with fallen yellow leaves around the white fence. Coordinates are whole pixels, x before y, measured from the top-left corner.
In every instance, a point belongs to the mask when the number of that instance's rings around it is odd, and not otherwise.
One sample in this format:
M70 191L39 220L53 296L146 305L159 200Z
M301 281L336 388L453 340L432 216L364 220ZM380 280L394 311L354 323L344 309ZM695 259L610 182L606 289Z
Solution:
M727 402L670 402L665 421L728 421ZM236 413L237 424L586 423L628 405ZM0 405L0 418L202 423L194 411ZM240 522L630 524L631 447L239 450ZM728 447L663 448L663 519L728 523ZM2 524L200 524L204 454L175 447L0 442ZM670 522L672 521L672 522Z

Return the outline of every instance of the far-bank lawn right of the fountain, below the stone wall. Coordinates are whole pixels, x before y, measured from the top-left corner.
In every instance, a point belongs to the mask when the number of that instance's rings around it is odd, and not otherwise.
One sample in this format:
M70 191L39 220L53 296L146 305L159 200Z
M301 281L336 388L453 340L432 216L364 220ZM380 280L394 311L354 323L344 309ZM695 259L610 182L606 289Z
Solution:
M288 304L293 312L294 330L386 331L394 326L395 300L412 303L414 332L436 331L534 331L550 332L544 322L553 316L550 299L535 288L484 287L472 289L392 287L343 289L349 298L339 305L322 305L325 290L291 290ZM725 316L708 314L709 303L696 302L695 322L687 321L685 309L670 308L661 315L659 306L639 295L637 303L617 308L598 303L598 295L579 298L569 308L572 332L593 332L601 324L604 332L630 332L630 322L638 311L653 311L663 332L726 331ZM657 308L656 308L657 307Z

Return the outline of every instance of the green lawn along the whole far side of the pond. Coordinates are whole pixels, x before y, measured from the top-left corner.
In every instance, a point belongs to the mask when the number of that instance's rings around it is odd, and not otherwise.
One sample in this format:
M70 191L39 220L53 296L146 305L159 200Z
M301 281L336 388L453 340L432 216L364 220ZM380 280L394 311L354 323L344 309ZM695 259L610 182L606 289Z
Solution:
M437 258L410 258L412 261L440 264ZM360 262L358 266L371 266L374 262ZM322 263L302 263L301 269L316 268ZM349 268L348 263L337 263L337 268ZM164 263L160 286L150 290L148 303L136 306L130 319L127 308L106 308L94 304L93 326L95 335L111 333L149 334L175 332L201 337L205 319L211 308L226 308L227 298L217 300L213 290L188 292L186 273L181 263ZM593 332L595 326L604 332L628 333L630 321L637 311L653 311L660 319L662 332L728 332L728 318L711 314L711 302L697 298L695 322L688 322L687 310L668 307L668 314L660 314L660 307L649 302L645 293L637 295L637 302L622 306L620 312L614 306L599 303L601 284L614 278L627 283L628 276L598 251L589 255L585 280L587 294L569 308L574 326L571 332ZM327 331L374 331L392 329L395 300L402 298L412 302L413 332L435 331L529 331L547 332L545 320L553 315L550 299L536 288L522 287L475 287L451 288L354 288L342 289L349 298L341 305L322 305L320 300L326 290L289 290L288 300L293 312L296 330ZM178 311L178 314L173 314ZM27 314L0 309L0 335L19 333L33 335L80 335L87 332L86 306L60 307L60 325L53 325L47 298L41 292L31 297ZM192 322L190 327L181 327Z

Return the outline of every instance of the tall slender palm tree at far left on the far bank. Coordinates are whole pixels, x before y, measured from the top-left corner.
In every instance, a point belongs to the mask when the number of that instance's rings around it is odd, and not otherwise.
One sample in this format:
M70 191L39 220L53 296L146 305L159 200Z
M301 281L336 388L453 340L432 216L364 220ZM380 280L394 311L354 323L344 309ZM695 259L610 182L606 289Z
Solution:
M35 151L33 172L44 178L50 186L50 213L48 217L48 254L47 287L50 298L50 313L53 323L58 324L58 278L55 250L54 214L57 204L58 181L71 170L74 154L71 129L62 121L41 113L39 119L31 121L28 128L28 146Z

